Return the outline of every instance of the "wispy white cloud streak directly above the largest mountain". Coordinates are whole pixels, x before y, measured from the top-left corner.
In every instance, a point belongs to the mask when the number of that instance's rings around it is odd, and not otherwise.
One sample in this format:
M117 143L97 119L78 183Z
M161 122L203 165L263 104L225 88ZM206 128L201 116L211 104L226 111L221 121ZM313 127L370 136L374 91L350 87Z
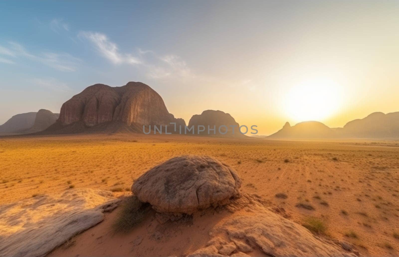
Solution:
M122 53L116 43L99 32L81 31L78 37L91 42L100 55L115 65L130 64L146 68L146 75L152 79L194 77L187 63L177 55L157 55L152 50L140 48L135 53Z

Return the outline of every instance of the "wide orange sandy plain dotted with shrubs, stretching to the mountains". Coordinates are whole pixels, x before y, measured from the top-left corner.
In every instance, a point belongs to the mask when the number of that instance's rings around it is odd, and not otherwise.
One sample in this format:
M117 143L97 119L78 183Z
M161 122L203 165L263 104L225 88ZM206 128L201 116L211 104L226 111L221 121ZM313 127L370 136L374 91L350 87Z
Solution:
M326 224L328 237L357 245L362 255L398 255L398 143L138 134L5 137L0 138L0 204L69 188L111 190L115 196L130 194L132 181L152 166L180 154L206 154L235 168L245 192L258 194L271 205L284 208L289 219L302 223L309 215L318 217ZM277 198L278 193L284 193L286 198ZM298 204L309 205L314 210ZM80 244L79 237L93 233L93 238L101 241L109 233L107 225L116 213L78 235L73 247ZM194 229L199 233L198 238L186 238L188 241L182 245L168 239L178 245L176 253L205 243L201 227L206 228L203 232L206 235L212 223L197 223L195 226L199 228ZM156 227L153 222L144 224ZM138 227L137 231L140 229L145 228ZM193 230L193 227L183 224L179 229ZM116 255L132 254L131 249L128 252L124 247L119 247L120 250L115 247L121 240L120 245L127 245L135 238L121 235L113 238ZM162 235L162 238L168 237ZM80 245L87 249L99 247L98 244ZM135 253L154 253L157 249L151 252L151 247L156 246L146 244L143 239L142 249ZM75 253L68 252L74 248L61 248L54 253Z

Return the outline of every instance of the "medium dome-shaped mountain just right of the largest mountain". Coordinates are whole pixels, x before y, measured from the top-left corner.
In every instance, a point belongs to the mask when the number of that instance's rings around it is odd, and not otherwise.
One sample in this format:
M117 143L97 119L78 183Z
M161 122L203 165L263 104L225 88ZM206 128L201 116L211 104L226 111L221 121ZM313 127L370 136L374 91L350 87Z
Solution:
M198 134L198 126L204 126L205 131L199 132L200 135L206 135L206 136L227 136L227 137L245 137L245 135L241 134L239 132L239 127L240 125L235 121L233 117L229 113L224 113L222 111L214 111L214 110L206 110L203 111L200 115L196 114L193 115L188 122L188 127L191 128L194 125L194 134ZM213 129L215 126L215 132L213 130L209 130L208 134L208 125L210 129ZM220 126L226 126L227 131L225 127L220 127ZM233 126L233 127L232 127ZM235 126L235 127L234 127ZM219 133L219 127L220 127L220 132ZM201 127L202 129L202 127ZM233 133L234 129L234 133ZM251 131L251 128L249 127L249 132ZM242 128L242 131L245 132L245 128ZM248 132L248 133L249 133ZM188 132L188 134L190 134Z

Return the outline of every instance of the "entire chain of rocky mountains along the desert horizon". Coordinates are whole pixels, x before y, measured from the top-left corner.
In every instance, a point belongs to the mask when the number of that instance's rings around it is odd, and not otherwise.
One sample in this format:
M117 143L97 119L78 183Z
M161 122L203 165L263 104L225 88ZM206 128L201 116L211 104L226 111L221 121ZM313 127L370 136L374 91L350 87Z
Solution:
M175 118L168 112L162 97L148 85L141 82L128 82L124 86L110 87L95 84L87 87L81 93L74 95L63 103L60 113L41 109L37 113L21 113L11 117L0 125L1 134L75 134L83 132L143 132L143 125L158 128L168 126L168 132L181 126L185 127L183 119ZM223 111L206 110L200 115L193 115L188 127L205 126L200 134L222 137L245 137L239 133L239 123ZM207 132L207 126L216 127ZM235 134L231 131L219 133L221 125L235 127ZM222 129L223 130L223 129ZM159 131L159 130L158 130ZM224 131L223 131L224 132ZM188 133L190 134L190 133ZM363 119L356 119L346 123L342 128L330 128L318 121L304 121L291 126L286 122L284 126L270 136L250 136L258 138L399 138L399 112L371 113Z

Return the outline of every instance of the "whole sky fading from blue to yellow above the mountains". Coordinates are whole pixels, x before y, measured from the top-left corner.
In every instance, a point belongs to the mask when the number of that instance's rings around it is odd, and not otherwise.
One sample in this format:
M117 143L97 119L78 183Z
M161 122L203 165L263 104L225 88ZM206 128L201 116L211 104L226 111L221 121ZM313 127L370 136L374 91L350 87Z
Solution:
M399 1L1 1L0 124L146 83L259 134L399 111Z

